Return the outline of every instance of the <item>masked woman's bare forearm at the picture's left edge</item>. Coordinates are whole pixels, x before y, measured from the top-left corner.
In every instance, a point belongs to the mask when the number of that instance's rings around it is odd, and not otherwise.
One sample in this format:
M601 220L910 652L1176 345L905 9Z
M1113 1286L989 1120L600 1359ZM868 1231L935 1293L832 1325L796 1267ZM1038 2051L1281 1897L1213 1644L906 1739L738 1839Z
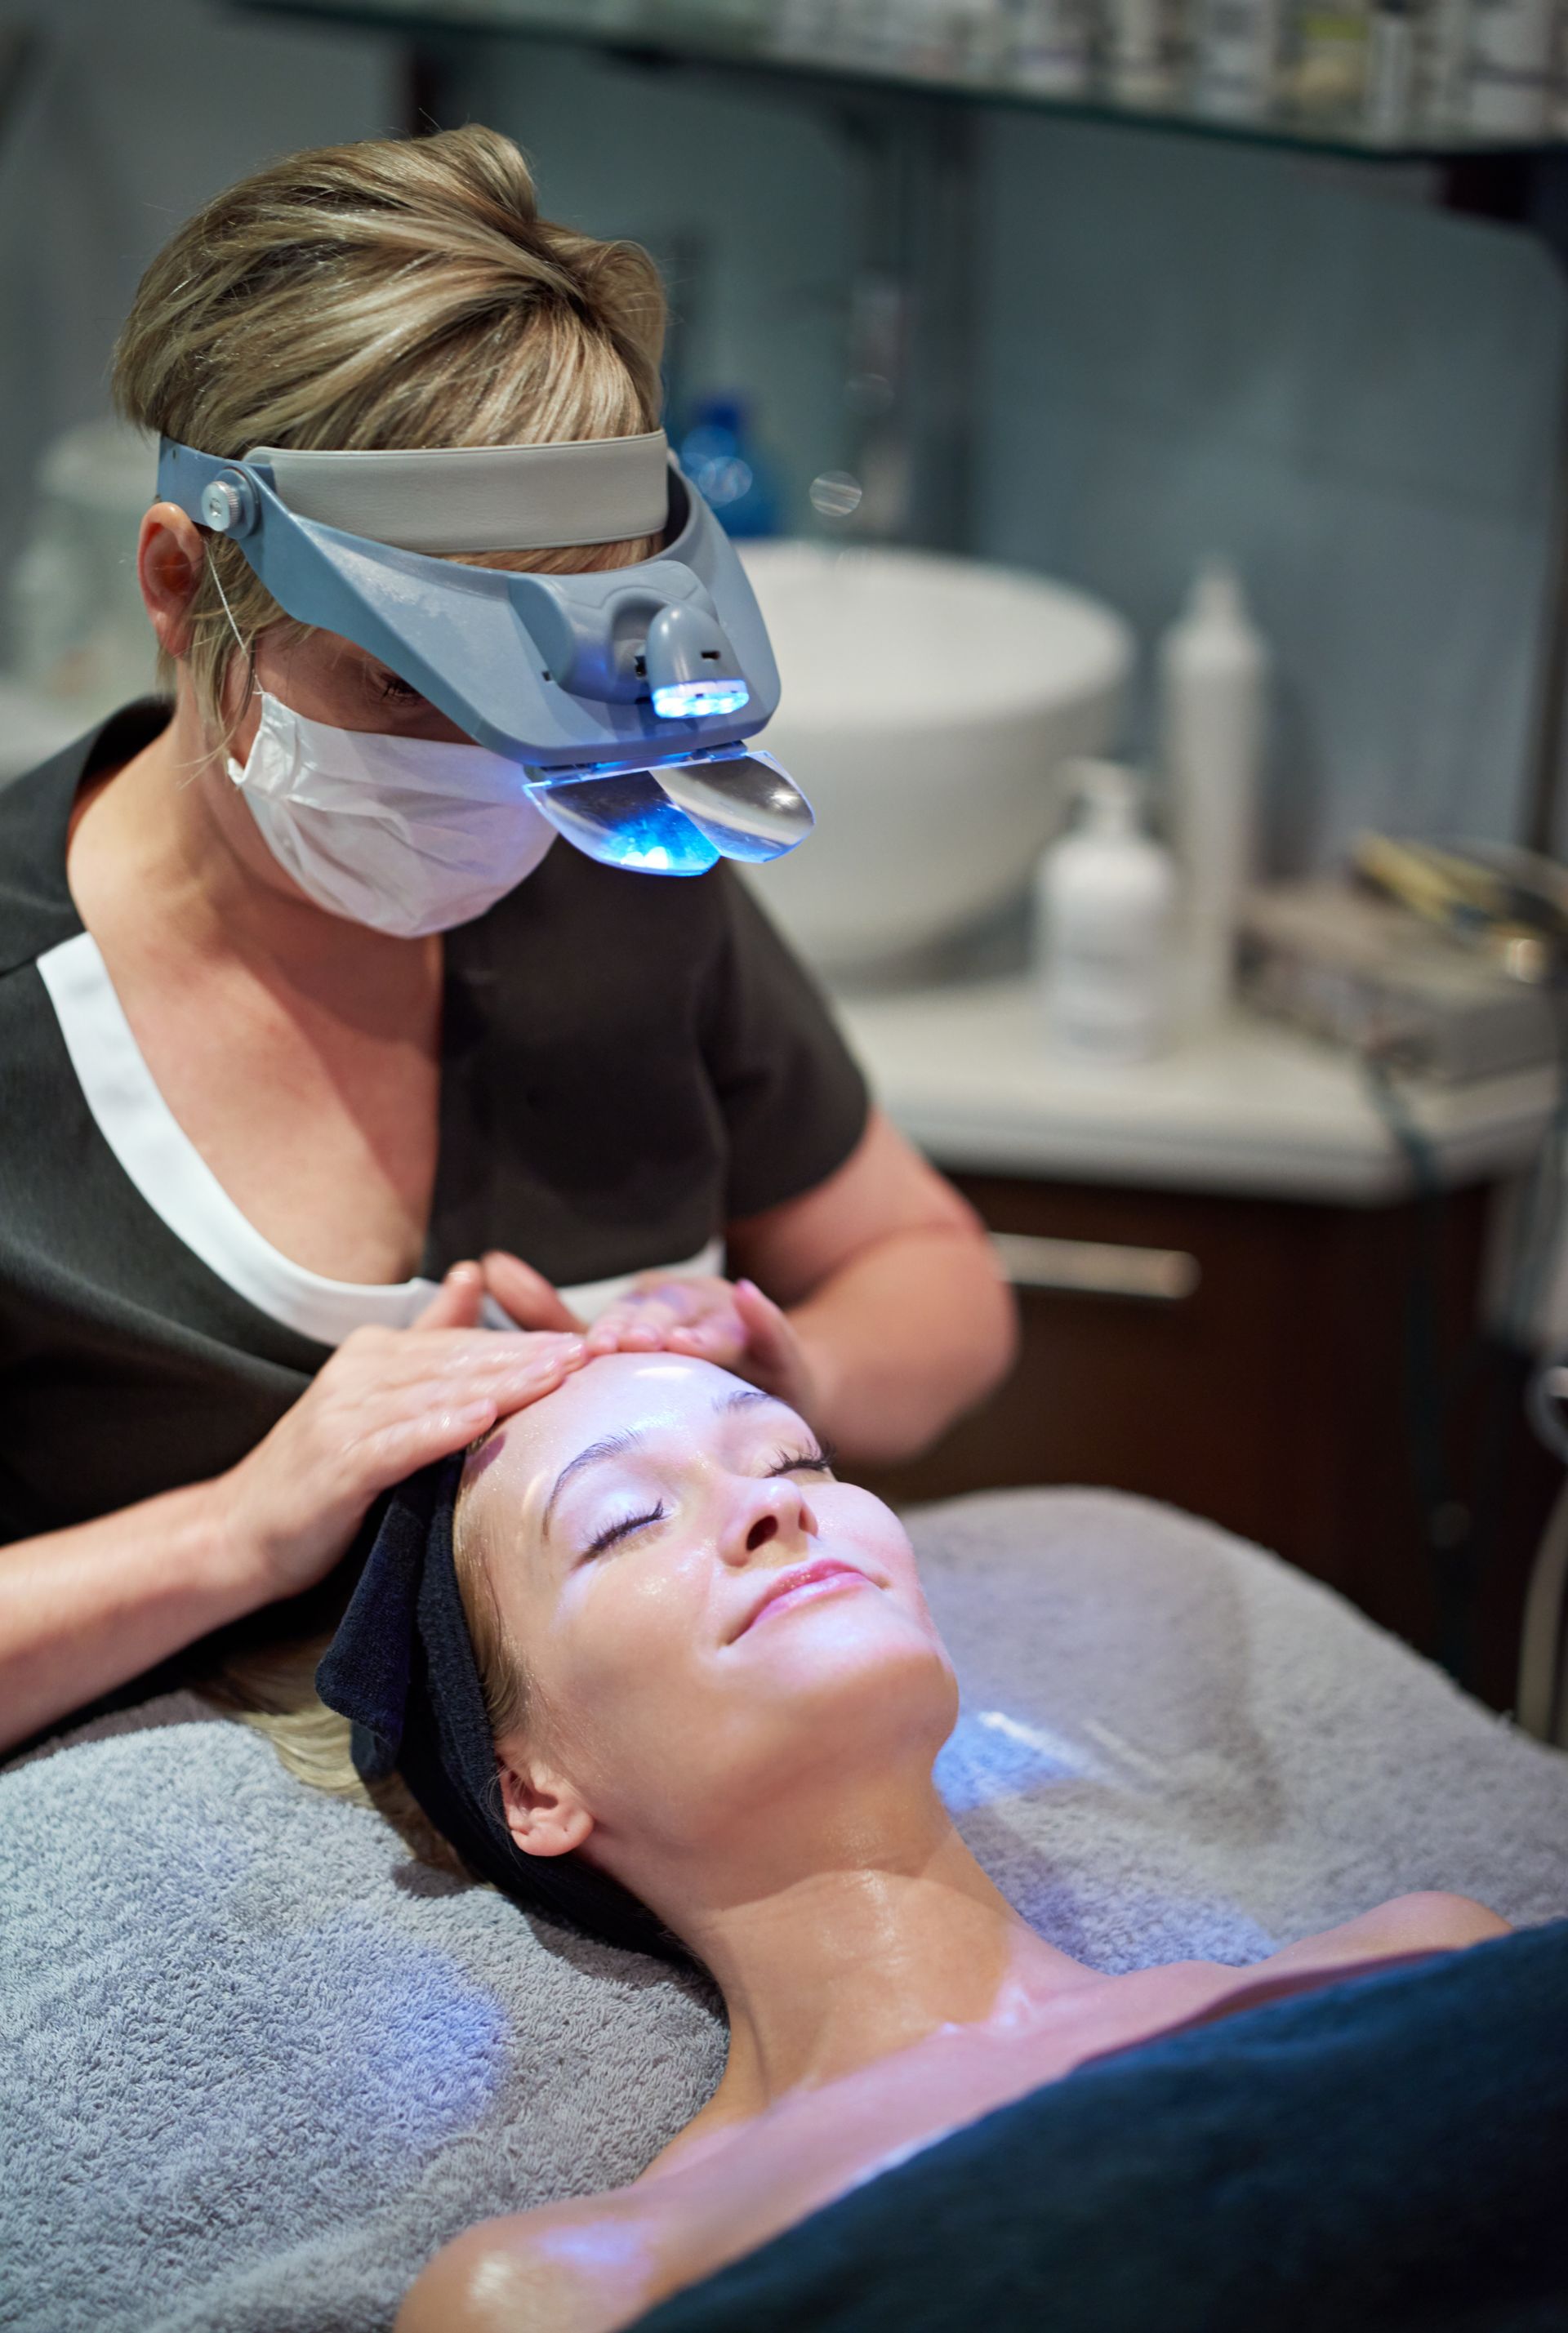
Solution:
M264 1600L212 1484L0 1547L0 1750Z

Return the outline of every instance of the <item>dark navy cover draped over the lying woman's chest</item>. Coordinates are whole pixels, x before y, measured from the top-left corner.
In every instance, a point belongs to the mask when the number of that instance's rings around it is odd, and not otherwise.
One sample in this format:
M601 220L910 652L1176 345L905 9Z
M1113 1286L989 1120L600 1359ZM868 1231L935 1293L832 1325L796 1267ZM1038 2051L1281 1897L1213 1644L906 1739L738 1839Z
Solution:
M1150 2041L635 2333L1559 2333L1568 1920Z

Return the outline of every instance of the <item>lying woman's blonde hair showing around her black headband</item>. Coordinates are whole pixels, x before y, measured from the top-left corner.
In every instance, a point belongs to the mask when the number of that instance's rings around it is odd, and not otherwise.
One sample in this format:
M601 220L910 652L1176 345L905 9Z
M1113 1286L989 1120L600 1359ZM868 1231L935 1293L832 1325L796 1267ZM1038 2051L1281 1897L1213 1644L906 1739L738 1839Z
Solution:
M525 1722L530 1684L523 1656L502 1619L481 1535L467 1512L471 1484L474 1474L464 1472L453 1512L453 1572L469 1624L490 1738L502 1740ZM282 1766L299 1782L324 1789L334 1799L373 1806L422 1864L471 1876L399 1775L387 1775L385 1782L376 1785L359 1775L348 1717L329 1710L315 1691L315 1670L331 1638L322 1635L231 1656L217 1680L217 1698L226 1701L257 1733L266 1733Z

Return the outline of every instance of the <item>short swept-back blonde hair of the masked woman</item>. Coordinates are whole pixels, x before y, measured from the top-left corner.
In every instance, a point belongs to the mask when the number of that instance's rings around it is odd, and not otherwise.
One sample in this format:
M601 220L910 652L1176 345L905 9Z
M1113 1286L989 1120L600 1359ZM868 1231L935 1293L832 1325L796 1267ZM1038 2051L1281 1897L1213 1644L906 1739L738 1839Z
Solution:
M539 217L518 147L476 124L289 154L198 210L142 275L114 401L142 429L252 446L530 446L658 427L665 296L635 243ZM212 537L189 674L224 733L236 639L289 618ZM474 565L621 567L651 541ZM219 593L222 586L222 593ZM303 632L303 625L294 628ZM159 656L173 688L173 658Z

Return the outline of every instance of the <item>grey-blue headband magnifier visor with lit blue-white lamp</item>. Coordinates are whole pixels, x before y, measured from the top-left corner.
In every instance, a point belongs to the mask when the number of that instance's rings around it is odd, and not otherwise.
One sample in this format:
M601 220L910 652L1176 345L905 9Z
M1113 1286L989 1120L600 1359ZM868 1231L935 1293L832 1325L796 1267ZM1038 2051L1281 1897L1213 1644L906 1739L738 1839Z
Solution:
M231 537L278 607L341 632L516 761L590 859L700 875L779 859L812 810L744 744L779 702L761 609L663 429L562 446L289 453L163 439L159 499ZM635 567L509 574L436 553L663 534Z

